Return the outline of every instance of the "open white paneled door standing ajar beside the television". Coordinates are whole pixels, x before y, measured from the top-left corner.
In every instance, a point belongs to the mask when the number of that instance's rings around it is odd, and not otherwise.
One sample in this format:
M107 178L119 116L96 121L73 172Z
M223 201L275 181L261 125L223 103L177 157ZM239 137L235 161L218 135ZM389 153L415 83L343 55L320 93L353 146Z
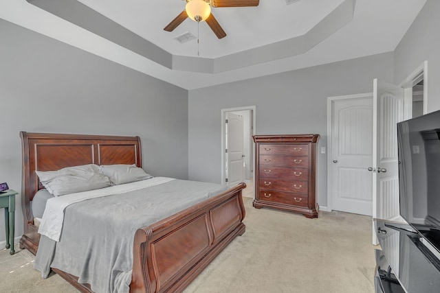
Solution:
M404 117L404 89L373 80L373 108L373 218L401 221L397 122Z

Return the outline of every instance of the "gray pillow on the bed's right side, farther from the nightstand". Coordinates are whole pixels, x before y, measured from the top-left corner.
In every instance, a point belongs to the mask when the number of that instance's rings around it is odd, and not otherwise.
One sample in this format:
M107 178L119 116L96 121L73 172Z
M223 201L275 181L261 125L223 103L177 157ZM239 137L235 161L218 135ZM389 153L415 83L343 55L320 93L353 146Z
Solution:
M114 185L152 178L136 165L100 165L100 173L108 176Z

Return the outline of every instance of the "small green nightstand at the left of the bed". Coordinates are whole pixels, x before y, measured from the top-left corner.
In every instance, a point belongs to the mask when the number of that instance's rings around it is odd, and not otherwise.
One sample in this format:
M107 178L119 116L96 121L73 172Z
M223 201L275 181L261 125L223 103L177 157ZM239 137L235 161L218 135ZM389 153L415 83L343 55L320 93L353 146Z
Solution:
M15 233L15 195L17 191L8 189L0 192L0 209L5 208L5 229L6 229L6 248L11 248L10 255L14 250Z

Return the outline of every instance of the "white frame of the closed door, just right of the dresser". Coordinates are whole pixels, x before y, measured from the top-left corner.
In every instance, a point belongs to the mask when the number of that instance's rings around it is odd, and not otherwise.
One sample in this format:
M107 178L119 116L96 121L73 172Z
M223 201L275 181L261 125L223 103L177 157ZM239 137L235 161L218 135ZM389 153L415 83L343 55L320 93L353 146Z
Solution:
M373 97L373 93L358 93L355 95L338 95L335 97L327 97L327 207L320 207L320 210L322 211L332 211L332 200L333 200L333 194L332 194L332 181L331 181L331 164L332 164L332 158L331 154L333 154L333 149L331 147L331 129L333 127L332 124L332 108L333 108L333 102L340 101L342 99L362 99L367 97Z

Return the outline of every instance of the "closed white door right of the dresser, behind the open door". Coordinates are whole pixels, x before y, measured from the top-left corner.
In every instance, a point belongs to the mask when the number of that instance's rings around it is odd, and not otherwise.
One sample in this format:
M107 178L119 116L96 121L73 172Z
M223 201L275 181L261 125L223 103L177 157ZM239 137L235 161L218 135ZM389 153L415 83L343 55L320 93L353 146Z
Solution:
M371 215L373 97L333 99L331 107L331 209Z

